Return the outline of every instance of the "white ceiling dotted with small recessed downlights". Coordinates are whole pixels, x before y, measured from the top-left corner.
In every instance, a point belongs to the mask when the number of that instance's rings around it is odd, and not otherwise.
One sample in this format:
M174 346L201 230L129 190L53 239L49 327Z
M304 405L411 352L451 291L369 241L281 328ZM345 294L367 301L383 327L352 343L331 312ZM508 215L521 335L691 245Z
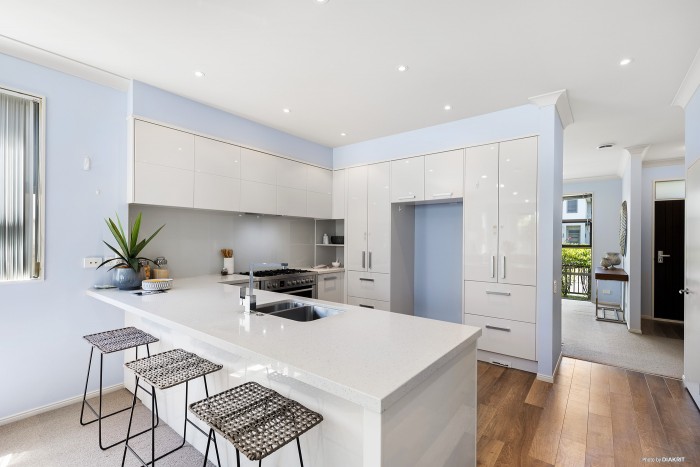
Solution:
M3 0L0 35L330 147L567 89L578 178L625 147L683 155L698 18L697 0Z

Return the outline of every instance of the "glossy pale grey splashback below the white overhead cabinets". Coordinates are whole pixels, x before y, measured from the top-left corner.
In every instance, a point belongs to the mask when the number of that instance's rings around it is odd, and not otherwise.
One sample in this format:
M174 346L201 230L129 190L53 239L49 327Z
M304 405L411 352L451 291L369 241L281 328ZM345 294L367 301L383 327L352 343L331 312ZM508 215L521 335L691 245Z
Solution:
M131 205L130 222L139 212L143 236L165 224L143 254L165 256L174 278L219 273L222 248L233 249L236 272L252 262L314 265L313 219Z

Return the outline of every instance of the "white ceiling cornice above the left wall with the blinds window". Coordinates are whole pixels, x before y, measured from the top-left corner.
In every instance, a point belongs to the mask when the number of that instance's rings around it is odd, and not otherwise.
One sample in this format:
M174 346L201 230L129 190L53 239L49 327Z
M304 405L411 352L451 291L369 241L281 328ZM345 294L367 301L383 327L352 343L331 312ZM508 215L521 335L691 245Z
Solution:
M129 80L109 71L0 35L0 52L53 70L77 76L119 91L129 88Z

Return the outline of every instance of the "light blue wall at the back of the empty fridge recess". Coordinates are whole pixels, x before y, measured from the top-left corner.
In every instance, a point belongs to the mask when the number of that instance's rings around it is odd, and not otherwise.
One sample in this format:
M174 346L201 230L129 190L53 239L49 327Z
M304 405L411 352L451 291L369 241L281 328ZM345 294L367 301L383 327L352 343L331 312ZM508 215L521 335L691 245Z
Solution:
M462 322L462 211L462 203L416 206L416 316Z

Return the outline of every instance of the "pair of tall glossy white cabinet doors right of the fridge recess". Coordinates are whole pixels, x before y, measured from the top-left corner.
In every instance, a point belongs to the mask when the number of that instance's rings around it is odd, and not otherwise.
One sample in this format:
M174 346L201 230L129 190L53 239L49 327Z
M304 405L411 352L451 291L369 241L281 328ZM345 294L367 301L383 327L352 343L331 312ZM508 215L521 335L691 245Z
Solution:
M535 285L537 138L468 148L464 278Z

